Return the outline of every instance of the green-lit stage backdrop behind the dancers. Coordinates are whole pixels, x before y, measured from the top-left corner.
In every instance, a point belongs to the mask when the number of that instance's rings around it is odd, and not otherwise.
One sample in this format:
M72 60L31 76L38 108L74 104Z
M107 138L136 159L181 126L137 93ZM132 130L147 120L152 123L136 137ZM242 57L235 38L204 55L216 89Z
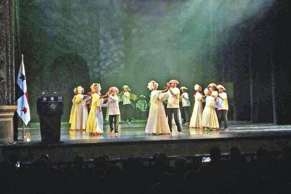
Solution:
M38 121L41 92L65 98L67 120L76 86L89 92L91 83L100 83L105 94L127 84L149 100L147 83L156 80L162 89L170 79L189 88L190 96L196 83L226 84L229 118L251 119L248 42L266 30L251 27L269 20L273 0L14 1L32 121ZM265 58L268 48L260 49Z

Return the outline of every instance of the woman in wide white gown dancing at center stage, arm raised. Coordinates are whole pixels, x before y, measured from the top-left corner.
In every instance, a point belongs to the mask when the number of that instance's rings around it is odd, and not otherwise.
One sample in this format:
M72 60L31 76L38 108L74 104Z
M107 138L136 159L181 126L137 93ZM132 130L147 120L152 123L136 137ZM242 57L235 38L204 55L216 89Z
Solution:
M157 90L159 84L152 80L148 83L148 89L152 90L151 92L151 106L149 117L145 129L147 134L171 134L167 119L165 116L165 110L162 104L162 93L165 93L169 90L170 84L167 83L167 88L165 90Z

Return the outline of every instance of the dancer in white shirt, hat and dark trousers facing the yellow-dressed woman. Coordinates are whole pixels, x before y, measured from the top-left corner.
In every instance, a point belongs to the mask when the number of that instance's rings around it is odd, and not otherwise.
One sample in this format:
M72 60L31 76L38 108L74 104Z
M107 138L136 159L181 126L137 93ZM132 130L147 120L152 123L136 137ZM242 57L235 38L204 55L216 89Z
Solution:
M104 107L108 107L108 115L109 115L109 127L110 131L109 134L112 133L114 129L114 134L118 135L118 128L119 128L119 120L120 120L120 110L118 105L118 96L119 93L118 88L111 87L108 90L108 100L106 104L103 104ZM114 127L113 127L114 126Z

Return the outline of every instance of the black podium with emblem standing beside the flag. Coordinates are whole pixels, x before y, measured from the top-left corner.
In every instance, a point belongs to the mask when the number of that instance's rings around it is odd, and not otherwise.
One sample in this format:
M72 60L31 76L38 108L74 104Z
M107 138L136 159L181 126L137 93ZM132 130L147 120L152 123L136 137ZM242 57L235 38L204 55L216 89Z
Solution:
M36 102L41 142L60 143L61 118L64 113L63 97L39 97Z

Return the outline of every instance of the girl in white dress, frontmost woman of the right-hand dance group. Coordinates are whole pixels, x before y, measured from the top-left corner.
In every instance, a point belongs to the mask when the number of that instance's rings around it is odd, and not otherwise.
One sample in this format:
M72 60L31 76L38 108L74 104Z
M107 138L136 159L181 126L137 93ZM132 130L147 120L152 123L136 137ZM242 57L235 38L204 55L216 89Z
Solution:
M212 91L208 90L205 108L202 113L202 127L205 127L205 130L216 130L216 128L219 128L217 115L214 110L214 103L217 97L212 97L211 95Z

